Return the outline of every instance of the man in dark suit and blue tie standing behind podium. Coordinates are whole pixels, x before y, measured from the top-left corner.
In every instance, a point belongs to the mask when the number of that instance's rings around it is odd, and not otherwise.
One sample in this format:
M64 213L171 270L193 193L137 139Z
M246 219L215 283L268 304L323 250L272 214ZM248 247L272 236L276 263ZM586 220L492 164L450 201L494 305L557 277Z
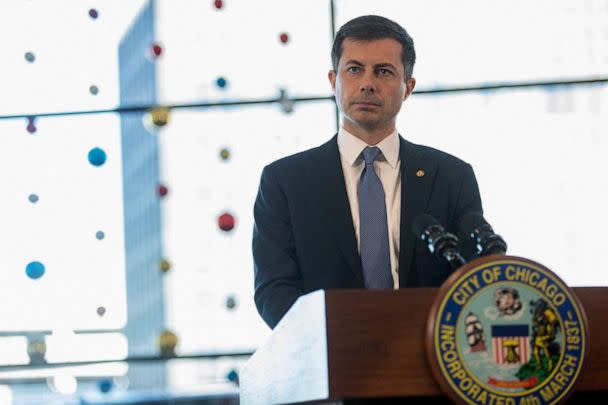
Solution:
M404 140L396 116L416 85L414 43L397 23L364 16L332 48L340 131L264 168L254 206L255 303L274 328L317 289L439 286L450 269L411 231L434 216L456 232L481 212L470 165ZM429 117L432 118L432 117Z

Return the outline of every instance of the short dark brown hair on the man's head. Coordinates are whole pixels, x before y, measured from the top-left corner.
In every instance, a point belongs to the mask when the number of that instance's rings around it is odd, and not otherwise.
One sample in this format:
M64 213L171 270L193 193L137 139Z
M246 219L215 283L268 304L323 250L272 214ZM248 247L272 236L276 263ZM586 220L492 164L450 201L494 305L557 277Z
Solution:
M414 40L396 22L377 15L364 15L352 19L340 27L331 48L331 63L335 71L338 71L338 62L342 56L342 42L347 38L363 42L384 38L396 40L402 47L401 60L405 71L405 80L412 77L414 63L416 63Z

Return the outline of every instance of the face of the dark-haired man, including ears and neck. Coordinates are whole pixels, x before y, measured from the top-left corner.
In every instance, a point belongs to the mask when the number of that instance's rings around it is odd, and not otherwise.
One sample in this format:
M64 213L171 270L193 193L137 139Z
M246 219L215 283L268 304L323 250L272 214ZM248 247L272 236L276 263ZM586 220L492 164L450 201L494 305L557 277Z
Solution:
M391 38L344 40L338 71L329 72L329 81L347 131L394 130L401 104L416 84L413 78L404 81L401 52L401 44Z

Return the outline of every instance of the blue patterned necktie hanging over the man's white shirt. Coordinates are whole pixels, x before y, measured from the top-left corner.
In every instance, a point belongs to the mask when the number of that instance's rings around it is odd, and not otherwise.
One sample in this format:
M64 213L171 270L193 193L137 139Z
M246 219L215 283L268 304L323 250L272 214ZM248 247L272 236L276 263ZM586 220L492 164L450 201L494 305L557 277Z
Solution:
M361 173L358 193L361 264L365 286L371 289L392 288L384 189L374 169L374 161L380 154L380 149L367 147L361 154L365 168Z

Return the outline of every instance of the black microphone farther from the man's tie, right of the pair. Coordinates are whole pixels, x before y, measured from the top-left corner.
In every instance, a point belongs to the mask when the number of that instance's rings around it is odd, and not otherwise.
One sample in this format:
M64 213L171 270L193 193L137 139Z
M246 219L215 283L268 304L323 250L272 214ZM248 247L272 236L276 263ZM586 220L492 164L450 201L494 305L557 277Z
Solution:
M504 255L507 252L507 242L494 233L492 226L478 212L465 214L458 223L458 229L475 242L477 256L492 254Z

